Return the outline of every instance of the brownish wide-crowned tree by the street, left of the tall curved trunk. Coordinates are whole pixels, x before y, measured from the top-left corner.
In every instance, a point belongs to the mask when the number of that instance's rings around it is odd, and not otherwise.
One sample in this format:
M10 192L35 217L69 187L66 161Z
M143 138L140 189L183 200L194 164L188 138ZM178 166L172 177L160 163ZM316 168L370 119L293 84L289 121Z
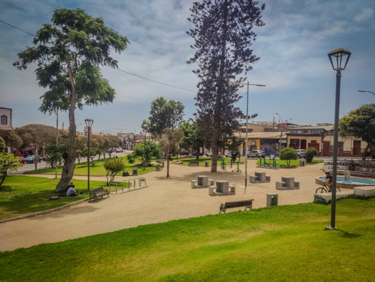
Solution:
M47 144L56 141L56 128L44 124L27 124L15 130L21 136L24 147L33 145L35 171L37 171L39 152L42 152Z

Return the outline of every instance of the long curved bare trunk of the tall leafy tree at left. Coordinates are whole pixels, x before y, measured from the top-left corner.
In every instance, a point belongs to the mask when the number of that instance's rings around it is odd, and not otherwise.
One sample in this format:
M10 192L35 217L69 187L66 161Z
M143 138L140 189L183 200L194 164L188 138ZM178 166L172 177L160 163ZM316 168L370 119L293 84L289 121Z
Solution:
M75 92L75 85L73 81L72 76L72 69L70 66L70 61L68 58L65 58L67 62L68 72L69 72L69 79L72 85L72 101L70 103L69 108L69 137L68 137L68 156L64 160L64 166L62 168L61 172L61 178L60 181L56 185L55 192L64 191L66 187L68 187L70 181L72 180L73 174L74 174L74 168L75 168L75 134L76 134L76 128L75 128L75 105L77 103L77 94Z

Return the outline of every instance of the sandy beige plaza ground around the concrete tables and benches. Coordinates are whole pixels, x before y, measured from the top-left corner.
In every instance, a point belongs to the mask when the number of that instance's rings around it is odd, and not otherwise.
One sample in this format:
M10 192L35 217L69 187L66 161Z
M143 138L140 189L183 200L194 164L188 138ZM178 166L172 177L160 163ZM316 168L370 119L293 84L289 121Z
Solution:
M324 176L323 163L304 167L267 169L257 168L256 160L248 160L248 176L255 171L265 171L271 176L269 183L247 184L244 193L244 164L241 173L218 167L211 173L210 167L188 167L170 164L170 179L166 179L166 168L144 175L148 187L121 194L111 194L98 202L84 202L73 207L36 217L4 222L0 224L0 250L14 250L19 247L49 242L59 242L89 235L111 232L138 225L167 222L171 220L200 217L219 213L221 203L254 199L253 208L266 206L266 194L278 193L279 205L312 202L319 187L315 178ZM233 167L234 169L234 167ZM191 180L198 175L209 179L226 180L236 186L236 195L209 196L208 188L192 189ZM51 177L54 175L38 175ZM275 181L281 176L293 176L300 181L299 190L276 190ZM87 177L75 176L75 179ZM117 176L115 181L131 177ZM105 181L105 177L91 177L91 180ZM77 187L85 189L85 187ZM346 189L343 189L346 190ZM234 212L243 208L228 209Z

